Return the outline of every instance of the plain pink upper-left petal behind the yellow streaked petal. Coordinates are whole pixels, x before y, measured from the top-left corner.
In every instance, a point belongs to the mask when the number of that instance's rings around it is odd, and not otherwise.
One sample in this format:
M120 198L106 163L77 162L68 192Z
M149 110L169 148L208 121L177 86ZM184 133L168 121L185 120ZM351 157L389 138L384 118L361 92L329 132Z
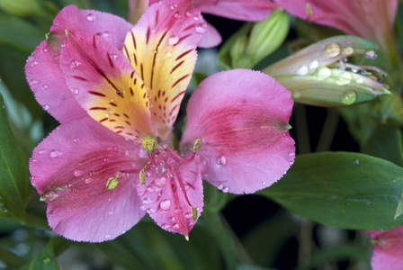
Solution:
M59 55L66 38L65 30L98 34L121 48L132 25L118 16L97 11L81 10L68 5L55 18L49 39L40 43L25 66L27 81L35 97L61 123L85 116L74 101L59 67ZM68 108L68 112L65 111ZM74 113L71 113L74 112Z

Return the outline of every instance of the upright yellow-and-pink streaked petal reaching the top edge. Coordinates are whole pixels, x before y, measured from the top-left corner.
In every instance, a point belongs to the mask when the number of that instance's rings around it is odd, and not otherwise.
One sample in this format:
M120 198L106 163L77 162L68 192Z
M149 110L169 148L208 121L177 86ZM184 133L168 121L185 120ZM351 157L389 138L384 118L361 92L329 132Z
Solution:
M124 54L148 87L151 115L162 138L176 119L205 28L189 1L162 1L148 8L124 42Z

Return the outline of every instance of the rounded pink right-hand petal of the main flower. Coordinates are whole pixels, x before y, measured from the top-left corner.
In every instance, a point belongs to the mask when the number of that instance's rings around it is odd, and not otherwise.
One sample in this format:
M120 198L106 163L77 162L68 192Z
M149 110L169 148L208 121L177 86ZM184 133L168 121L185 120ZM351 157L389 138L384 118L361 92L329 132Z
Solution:
M201 138L203 179L224 192L254 193L293 163L287 130L292 104L290 92L263 73L236 69L209 76L189 100L181 147Z

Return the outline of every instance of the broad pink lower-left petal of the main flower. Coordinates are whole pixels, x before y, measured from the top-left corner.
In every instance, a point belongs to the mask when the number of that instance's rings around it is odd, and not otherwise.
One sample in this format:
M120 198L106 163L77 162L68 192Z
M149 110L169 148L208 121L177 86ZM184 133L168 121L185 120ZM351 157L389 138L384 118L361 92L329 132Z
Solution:
M48 204L49 226L76 241L102 242L120 236L143 216L135 175L125 170L147 162L141 146L91 118L60 125L33 150L31 183ZM119 174L114 190L108 178Z

